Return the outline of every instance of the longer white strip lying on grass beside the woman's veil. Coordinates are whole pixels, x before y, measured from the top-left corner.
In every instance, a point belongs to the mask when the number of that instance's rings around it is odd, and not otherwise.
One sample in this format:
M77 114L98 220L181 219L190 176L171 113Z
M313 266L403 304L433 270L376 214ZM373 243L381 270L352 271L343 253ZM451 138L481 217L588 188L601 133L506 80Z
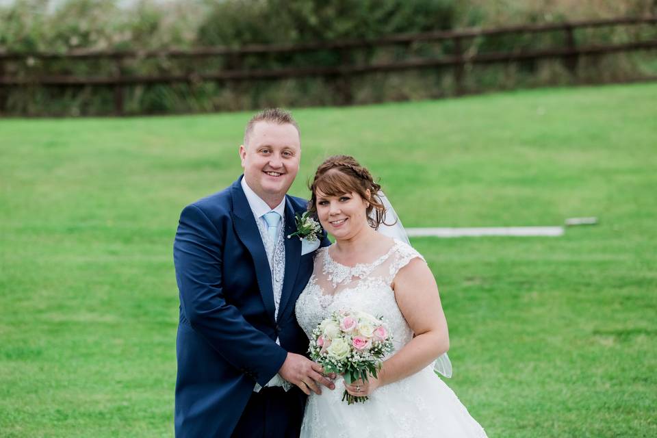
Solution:
M519 237L558 237L563 227L480 227L480 228L407 228L409 237L480 237L488 235Z

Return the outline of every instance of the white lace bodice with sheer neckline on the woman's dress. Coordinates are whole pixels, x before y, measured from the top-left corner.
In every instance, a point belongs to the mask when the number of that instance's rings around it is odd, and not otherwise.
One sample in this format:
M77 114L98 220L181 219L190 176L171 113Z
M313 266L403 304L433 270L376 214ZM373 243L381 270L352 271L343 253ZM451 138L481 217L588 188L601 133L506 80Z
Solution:
M408 244L394 241L372 263L345 266L331 258L329 248L315 255L313 274L296 302L296 318L310 338L315 327L338 310L360 310L383 316L393 335L394 351L407 344L413 331L402 315L391 285L409 261L424 257Z

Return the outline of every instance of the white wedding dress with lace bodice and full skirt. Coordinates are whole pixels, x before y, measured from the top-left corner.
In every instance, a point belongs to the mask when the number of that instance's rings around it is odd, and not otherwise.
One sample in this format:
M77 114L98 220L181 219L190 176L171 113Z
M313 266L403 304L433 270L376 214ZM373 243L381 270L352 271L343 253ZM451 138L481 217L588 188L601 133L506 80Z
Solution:
M424 259L396 240L376 261L350 267L331 259L328 248L321 248L313 275L296 302L300 326L310 338L315 326L333 311L361 310L383 316L394 337L394 351L400 350L411 341L413 331L390 285L415 257ZM309 396L301 437L486 437L454 392L434 373L433 365L377 388L364 403L343 402L342 378L335 383L333 391L324 388L321 396Z

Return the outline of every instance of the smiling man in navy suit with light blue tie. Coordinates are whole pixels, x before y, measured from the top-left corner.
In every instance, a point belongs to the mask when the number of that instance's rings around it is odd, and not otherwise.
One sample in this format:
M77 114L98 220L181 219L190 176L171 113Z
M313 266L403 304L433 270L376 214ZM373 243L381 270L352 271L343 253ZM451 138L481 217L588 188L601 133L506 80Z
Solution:
M246 125L244 176L181 213L178 438L298 437L306 394L334 387L303 356L308 339L294 314L313 251L329 244L325 235L310 247L287 238L307 206L286 194L300 155L292 115L264 110Z

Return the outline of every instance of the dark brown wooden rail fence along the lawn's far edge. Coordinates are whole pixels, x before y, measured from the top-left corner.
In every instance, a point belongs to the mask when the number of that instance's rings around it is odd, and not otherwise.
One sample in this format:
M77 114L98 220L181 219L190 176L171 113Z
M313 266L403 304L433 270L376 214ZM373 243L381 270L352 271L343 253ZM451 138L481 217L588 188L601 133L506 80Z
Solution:
M199 83L202 81L249 81L259 79L287 79L297 77L340 77L347 79L356 75L377 72L394 72L402 70L417 70L422 68L454 68L454 79L457 89L462 88L463 70L466 65L521 62L528 60L547 60L561 58L567 60L570 70L574 70L578 58L587 55L604 55L607 53L622 53L657 49L657 39L623 42L619 44L600 44L578 46L574 32L580 29L597 27L614 27L628 25L655 25L657 17L616 18L611 20L576 21L570 23L554 23L543 25L523 25L503 27L498 29L462 29L456 31L433 31L420 34L400 34L386 36L376 40L336 40L331 42L309 42L305 44L278 45L247 45L240 48L231 47L201 47L196 49L168 49L151 51L99 51L92 49L77 49L67 53L25 52L7 53L0 51L0 88L9 86L112 86L114 87L115 112L123 113L123 87L156 83ZM463 50L463 42L482 36L504 36L512 34L541 34L561 31L565 34L565 44L562 47L550 49L534 49L526 51L467 53ZM127 75L122 74L125 60L146 60L149 58L211 58L228 56L239 60L246 55L294 54L313 51L351 51L372 47L392 47L400 44L417 42L453 43L452 53L441 57L417 58L391 62L373 62L368 64L346 64L339 66L313 66L294 68L246 69L239 66L222 69L210 73L184 73L159 75ZM113 60L116 63L113 75L77 77L73 75L38 75L30 77L8 77L3 75L5 62L34 62L34 60L67 60L70 62L85 62L89 60ZM234 63L233 63L234 64ZM237 62L239 64L239 62ZM0 101L0 105L2 102ZM0 108L1 110L1 108Z

